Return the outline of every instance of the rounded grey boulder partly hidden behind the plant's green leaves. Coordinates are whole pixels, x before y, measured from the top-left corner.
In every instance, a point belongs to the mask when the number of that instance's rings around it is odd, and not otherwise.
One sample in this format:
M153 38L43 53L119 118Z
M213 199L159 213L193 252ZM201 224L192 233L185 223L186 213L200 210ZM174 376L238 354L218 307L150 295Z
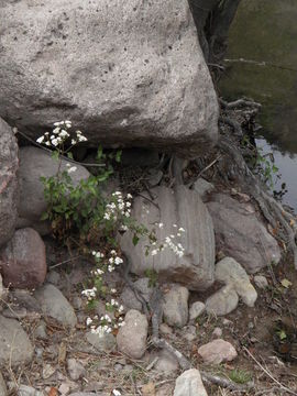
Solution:
M19 217L25 219L26 227L35 227L41 223L41 216L46 210L44 198L44 185L41 177L56 175L58 161L55 161L50 153L44 150L26 146L20 148L20 169L18 173L20 185ZM67 161L63 160L61 170L67 169ZM76 172L69 174L74 185L81 179L89 177L89 172L81 165L76 165Z

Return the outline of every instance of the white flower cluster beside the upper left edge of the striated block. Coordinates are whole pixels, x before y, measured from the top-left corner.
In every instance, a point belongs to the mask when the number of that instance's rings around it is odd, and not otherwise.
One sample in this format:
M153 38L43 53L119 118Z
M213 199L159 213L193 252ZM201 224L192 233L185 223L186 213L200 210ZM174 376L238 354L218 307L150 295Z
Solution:
M125 198L121 191L116 191L111 195L111 202L106 206L106 212L103 218L106 220L117 221L119 218L130 218L131 216L131 194L128 194ZM122 230L123 227L122 227Z

